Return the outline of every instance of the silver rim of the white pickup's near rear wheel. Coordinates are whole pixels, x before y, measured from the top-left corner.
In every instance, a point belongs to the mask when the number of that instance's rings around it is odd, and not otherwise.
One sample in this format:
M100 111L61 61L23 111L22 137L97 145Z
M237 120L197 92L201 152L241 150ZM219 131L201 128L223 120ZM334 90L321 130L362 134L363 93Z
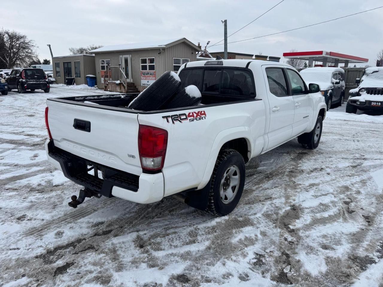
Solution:
M229 204L236 197L239 189L239 175L239 168L236 165L229 166L224 172L219 191L219 196L224 204Z

